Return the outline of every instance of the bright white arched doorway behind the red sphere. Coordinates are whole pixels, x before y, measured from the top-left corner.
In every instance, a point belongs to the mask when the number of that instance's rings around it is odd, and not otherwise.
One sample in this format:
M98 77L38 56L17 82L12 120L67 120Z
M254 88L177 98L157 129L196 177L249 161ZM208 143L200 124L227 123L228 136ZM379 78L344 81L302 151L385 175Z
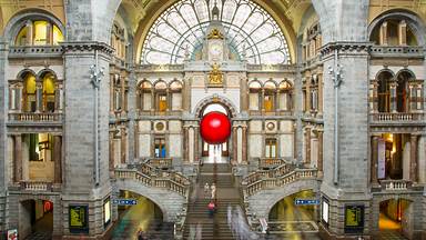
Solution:
M221 112L229 118L231 117L230 109L220 102L212 102L206 104L201 113L200 119L210 112ZM222 144L209 144L204 140L201 140L202 151L201 157L205 163L227 163L230 157L230 139Z

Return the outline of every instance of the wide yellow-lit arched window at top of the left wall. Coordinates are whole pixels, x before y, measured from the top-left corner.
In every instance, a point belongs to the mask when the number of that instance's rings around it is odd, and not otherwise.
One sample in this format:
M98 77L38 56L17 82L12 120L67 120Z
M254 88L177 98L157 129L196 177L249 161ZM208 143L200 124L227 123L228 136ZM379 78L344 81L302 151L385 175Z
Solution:
M63 41L59 27L47 20L28 20L18 32L16 46L50 46Z

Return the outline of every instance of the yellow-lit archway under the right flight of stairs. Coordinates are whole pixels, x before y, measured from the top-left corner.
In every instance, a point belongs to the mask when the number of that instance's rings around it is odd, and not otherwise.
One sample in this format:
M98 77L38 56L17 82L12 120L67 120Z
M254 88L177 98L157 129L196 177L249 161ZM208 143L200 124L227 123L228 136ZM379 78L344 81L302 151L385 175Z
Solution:
M320 239L317 206L307 201L316 198L313 190L304 190L276 202L268 213L271 233L283 239Z

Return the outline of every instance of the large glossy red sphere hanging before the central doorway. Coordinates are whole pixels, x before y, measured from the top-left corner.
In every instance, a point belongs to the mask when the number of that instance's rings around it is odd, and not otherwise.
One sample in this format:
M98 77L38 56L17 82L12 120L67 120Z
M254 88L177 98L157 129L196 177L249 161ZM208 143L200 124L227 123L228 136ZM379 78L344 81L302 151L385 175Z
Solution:
M222 112L209 112L201 120L200 133L205 142L221 144L230 138L230 119Z

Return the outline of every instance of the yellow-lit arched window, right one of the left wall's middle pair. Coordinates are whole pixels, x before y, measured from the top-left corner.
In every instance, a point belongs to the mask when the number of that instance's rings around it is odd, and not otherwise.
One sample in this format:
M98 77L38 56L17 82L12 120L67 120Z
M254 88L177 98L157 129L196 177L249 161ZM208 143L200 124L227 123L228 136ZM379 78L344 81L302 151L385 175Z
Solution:
M53 112L55 108L55 82L53 73L45 72L41 76L42 79L42 110Z

